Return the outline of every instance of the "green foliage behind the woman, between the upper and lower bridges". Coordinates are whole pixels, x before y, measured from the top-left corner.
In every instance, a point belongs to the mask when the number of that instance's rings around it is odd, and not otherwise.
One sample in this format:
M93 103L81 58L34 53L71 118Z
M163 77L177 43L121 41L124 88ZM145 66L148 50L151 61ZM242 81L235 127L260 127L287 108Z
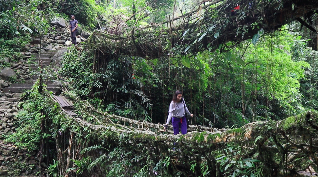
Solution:
M277 33L259 38L255 46L242 42L227 53L166 60L109 55L95 58L94 63L85 53L82 59L73 54L66 57L61 73L76 81L82 97L94 95L89 98L109 113L162 123L173 93L182 90L190 112L196 115L190 124L242 126L280 120L303 110L299 81L309 65L292 60L290 46L297 37Z

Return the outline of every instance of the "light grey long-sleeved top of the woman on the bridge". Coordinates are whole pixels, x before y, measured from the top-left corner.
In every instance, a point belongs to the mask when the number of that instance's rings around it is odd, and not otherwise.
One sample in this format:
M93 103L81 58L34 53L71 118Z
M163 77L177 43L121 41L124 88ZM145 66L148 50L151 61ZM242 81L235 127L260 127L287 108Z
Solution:
M167 119L166 124L170 123L171 117L178 117L178 118L183 117L185 115L184 106L185 106L185 111L187 112L187 114L190 115L190 112L189 112L187 105L185 104L185 101L183 98L182 98L182 100L183 100L184 105L183 105L182 101L180 101L179 103L176 103L176 104L174 104L174 102L171 101L171 103L169 105L169 111L168 111L169 115L168 115L168 119Z

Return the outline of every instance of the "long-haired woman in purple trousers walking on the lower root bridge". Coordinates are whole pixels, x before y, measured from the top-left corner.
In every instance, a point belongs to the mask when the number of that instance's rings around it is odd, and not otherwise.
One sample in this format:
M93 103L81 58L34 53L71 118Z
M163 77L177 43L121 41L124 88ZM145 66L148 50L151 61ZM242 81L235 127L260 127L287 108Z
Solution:
M187 120L185 113L193 117L193 114L190 114L187 105L184 102L182 92L177 90L169 105L169 115L166 123L169 124L172 117L172 127L175 135L179 134L180 128L183 135L187 134ZM164 127L164 130L166 130L166 126Z

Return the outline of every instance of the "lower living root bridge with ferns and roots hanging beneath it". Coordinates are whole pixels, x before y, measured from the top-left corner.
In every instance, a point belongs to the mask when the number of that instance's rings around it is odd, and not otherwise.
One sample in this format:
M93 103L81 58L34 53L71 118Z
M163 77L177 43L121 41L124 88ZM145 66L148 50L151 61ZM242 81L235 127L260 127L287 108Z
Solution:
M55 127L60 175L105 176L106 171L110 176L156 176L155 172L161 171L168 176L197 177L209 172L209 176L221 177L227 171L231 171L229 176L238 168L247 169L239 163L251 166L253 173L261 170L264 176L317 170L317 111L282 121L254 122L238 129L191 127L186 135L172 135L162 133L162 125L110 115L76 100L76 111L82 118L61 112L53 121L60 121L61 126ZM172 151L173 147L179 150Z

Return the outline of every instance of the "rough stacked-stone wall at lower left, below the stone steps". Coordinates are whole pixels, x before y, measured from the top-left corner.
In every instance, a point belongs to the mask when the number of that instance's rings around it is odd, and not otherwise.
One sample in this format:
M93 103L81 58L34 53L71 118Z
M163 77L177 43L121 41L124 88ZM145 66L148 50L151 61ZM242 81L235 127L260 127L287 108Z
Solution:
M17 105L20 93L0 94L0 176L35 176L38 173L38 152L28 152L26 148L19 148L7 144L3 140L5 135L15 132L19 121ZM41 164L45 168L45 164Z

